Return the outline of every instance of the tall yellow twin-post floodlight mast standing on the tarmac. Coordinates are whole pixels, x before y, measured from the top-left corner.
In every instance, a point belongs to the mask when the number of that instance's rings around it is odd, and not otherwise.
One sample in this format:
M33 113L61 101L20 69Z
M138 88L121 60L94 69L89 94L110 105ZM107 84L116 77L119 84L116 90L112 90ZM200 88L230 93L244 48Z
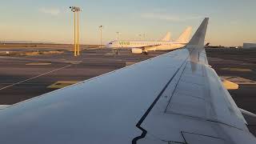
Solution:
M80 55L79 45L79 12L82 11L80 7L70 6L70 10L74 13L74 56Z

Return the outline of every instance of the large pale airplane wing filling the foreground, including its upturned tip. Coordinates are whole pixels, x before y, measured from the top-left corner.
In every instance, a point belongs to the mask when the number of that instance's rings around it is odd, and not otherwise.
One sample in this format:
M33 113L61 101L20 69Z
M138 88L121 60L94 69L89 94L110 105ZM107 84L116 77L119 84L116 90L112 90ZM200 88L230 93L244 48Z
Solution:
M207 23L185 49L0 110L0 143L255 143L208 65Z

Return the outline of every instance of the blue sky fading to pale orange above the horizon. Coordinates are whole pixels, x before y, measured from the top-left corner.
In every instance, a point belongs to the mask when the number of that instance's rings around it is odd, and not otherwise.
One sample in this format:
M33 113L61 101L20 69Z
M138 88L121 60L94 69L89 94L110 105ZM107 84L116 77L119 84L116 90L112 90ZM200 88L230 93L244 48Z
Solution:
M0 5L0 41L73 43L74 15L80 6L82 44L120 39L159 40L168 31L175 40L205 17L210 18L206 42L242 46L256 42L255 0L8 0ZM193 32L194 32L193 31Z

